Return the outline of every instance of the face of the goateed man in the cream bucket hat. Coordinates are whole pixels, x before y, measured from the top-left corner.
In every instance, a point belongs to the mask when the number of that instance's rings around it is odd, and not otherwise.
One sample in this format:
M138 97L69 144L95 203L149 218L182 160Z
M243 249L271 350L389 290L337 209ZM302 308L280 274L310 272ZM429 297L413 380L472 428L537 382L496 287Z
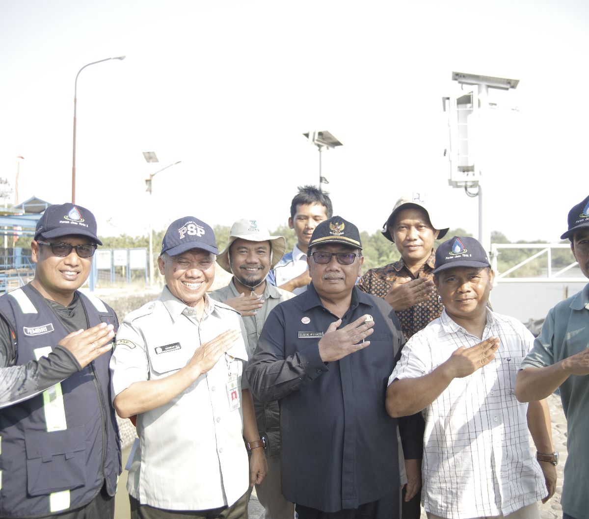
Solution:
M237 238L229 248L229 265L235 280L249 289L262 284L270 271L271 250L269 241Z

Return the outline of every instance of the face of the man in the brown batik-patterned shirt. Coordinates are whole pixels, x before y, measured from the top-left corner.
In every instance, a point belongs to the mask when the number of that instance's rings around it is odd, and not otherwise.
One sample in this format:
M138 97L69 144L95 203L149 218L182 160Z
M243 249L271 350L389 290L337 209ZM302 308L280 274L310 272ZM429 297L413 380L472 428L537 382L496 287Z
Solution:
M434 248L439 231L432 227L428 214L423 209L408 208L399 211L389 225L395 245L408 267L423 265Z

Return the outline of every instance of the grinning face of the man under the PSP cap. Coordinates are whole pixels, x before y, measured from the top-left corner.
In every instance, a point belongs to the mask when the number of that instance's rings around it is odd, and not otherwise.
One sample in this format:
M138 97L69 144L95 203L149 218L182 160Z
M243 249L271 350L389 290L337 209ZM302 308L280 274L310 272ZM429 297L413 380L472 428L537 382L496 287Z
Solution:
M204 294L215 278L215 255L190 249L176 256L167 253L157 259L168 289L188 307L204 304Z

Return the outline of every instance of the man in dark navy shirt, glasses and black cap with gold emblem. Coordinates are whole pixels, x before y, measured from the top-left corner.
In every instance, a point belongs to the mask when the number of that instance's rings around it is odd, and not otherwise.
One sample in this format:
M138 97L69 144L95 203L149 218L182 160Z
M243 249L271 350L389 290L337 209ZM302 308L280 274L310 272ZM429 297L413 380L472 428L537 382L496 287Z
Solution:
M354 224L317 225L309 288L270 312L247 368L256 397L280 402L282 493L299 519L399 517L385 392L404 340L388 303L355 287L363 259ZM401 432L417 453L422 433Z

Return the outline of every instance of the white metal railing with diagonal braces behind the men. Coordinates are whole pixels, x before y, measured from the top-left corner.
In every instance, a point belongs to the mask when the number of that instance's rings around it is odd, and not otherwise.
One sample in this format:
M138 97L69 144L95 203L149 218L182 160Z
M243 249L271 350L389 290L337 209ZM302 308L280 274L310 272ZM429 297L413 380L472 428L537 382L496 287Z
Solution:
M564 268L560 268L557 271L554 271L552 268L552 249L569 249L571 246L570 244L559 243L559 244L546 244L546 243L522 243L522 244L498 244L494 243L491 244L491 267L495 271L495 281L496 282L558 282L558 283L571 283L571 282L584 282L587 281L583 275L578 277L564 277L561 276L564 272L567 272L571 268L574 268L577 265L577 262L574 261L571 264L567 265ZM514 267L509 268L505 272L499 272L497 268L497 259L499 254L501 254L500 249L540 249L535 254L532 254L530 257L524 259L524 261L520 261ZM531 261L536 258L541 257L542 255L546 255L546 276L540 277L507 277L509 274L517 271L518 268L527 265Z

